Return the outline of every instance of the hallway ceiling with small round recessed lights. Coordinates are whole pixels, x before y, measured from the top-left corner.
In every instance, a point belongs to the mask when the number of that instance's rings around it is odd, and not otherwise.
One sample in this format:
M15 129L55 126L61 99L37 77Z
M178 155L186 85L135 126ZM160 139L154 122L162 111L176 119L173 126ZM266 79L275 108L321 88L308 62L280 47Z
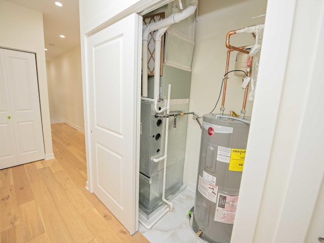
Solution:
M46 60L80 45L78 0L6 0L43 13ZM60 2L58 7L54 2ZM61 38L60 34L65 35Z

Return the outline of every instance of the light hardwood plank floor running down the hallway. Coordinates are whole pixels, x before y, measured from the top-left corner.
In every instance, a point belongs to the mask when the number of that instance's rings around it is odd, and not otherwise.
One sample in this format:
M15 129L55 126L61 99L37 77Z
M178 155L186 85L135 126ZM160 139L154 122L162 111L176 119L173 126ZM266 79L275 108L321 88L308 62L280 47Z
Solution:
M84 134L52 125L55 159L0 170L0 242L149 242L85 189Z

